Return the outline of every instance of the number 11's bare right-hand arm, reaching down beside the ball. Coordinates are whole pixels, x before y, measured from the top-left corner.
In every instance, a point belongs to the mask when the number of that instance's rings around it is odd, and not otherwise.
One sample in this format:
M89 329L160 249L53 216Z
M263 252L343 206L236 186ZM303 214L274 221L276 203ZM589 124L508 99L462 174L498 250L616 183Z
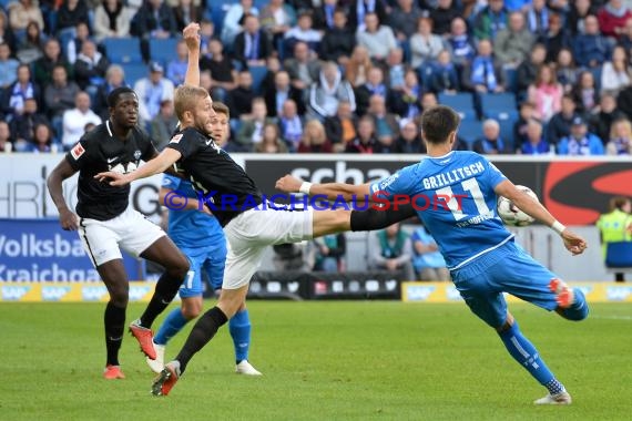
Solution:
M496 186L496 194L507 197L520 210L558 232L564 242L564 247L573 255L580 255L587 249L585 239L560 224L542 204L518 189L510 181L506 179Z

